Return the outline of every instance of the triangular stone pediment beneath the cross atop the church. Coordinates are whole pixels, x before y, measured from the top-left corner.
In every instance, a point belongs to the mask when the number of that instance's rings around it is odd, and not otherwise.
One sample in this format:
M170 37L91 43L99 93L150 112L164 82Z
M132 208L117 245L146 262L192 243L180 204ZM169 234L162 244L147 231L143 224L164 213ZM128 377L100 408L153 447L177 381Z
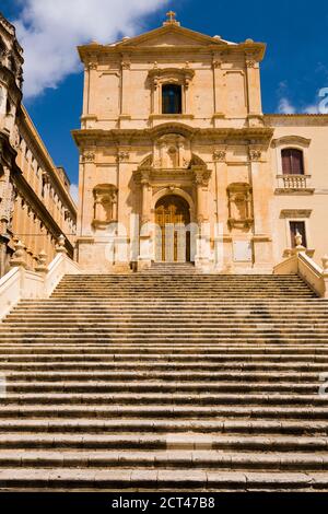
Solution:
M118 43L120 47L147 47L147 48L165 48L165 47L189 47L189 46L226 46L229 43L223 39L207 36L198 32L179 25L166 25L154 31L132 37L122 43Z

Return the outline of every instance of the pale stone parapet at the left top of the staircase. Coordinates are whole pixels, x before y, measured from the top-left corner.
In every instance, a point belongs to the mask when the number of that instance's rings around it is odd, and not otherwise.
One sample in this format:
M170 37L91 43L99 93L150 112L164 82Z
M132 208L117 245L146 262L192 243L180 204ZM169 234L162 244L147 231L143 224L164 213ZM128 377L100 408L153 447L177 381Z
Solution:
M0 280L0 320L20 300L47 299L65 274L80 272L79 265L66 254L57 255L43 273L26 270L24 266L12 268Z

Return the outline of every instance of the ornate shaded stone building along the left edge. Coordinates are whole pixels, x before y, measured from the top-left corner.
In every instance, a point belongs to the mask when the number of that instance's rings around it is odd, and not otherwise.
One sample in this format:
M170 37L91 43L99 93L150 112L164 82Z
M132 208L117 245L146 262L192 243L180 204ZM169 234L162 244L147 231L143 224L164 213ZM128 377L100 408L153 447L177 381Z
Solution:
M49 262L58 237L73 257L77 209L70 182L56 167L22 104L23 49L0 14L0 276L10 269L15 244L34 269L42 252Z

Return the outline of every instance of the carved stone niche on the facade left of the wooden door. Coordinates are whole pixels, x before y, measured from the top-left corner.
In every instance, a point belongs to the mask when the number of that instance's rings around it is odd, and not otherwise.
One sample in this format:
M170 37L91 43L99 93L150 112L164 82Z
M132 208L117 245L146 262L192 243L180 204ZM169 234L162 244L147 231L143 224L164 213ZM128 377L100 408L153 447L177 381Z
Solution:
M117 187L102 184L94 188L94 221L96 227L105 227L117 221Z

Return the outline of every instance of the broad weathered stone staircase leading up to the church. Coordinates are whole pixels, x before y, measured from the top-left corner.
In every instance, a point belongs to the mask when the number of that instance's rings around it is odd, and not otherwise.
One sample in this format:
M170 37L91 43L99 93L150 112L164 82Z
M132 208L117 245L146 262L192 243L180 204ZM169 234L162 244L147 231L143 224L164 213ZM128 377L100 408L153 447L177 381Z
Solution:
M328 491L328 303L187 269L67 276L0 324L0 490Z

